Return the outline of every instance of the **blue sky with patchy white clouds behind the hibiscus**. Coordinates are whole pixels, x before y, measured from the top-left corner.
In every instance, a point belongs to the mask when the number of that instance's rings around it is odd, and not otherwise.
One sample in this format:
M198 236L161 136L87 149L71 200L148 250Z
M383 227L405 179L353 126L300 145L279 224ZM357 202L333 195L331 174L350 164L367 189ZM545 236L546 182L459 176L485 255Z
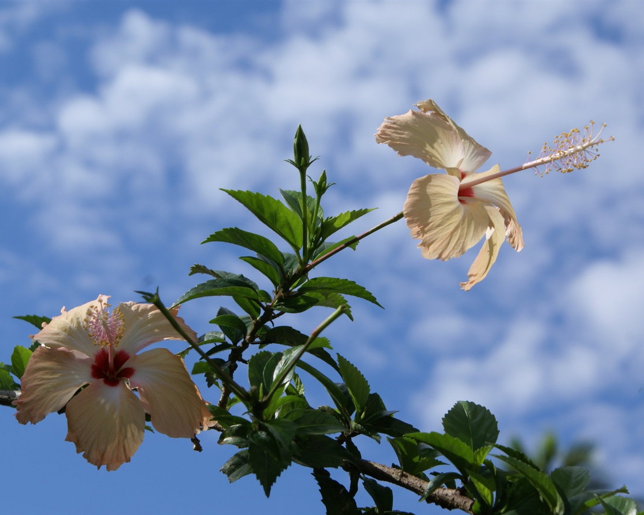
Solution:
M327 336L422 429L473 400L502 437L535 444L551 429L596 442L612 484L643 496L642 15L635 1L2 3L0 359L32 333L14 315L53 316L97 294L138 300L134 290L156 286L171 302L195 284L193 263L254 277L234 248L199 242L231 225L263 232L218 188L296 189L283 159L300 123L321 156L313 173L337 182L327 212L379 208L355 223L362 232L431 173L374 141L384 117L414 102L433 98L502 169L592 118L616 141L589 169L505 180L520 254L504 245L462 292L477 248L426 261L399 222L319 270L386 308L355 301L355 322ZM182 315L202 333L218 305ZM217 435L198 454L147 434L131 463L106 473L64 442L64 417L28 427L10 409L0 417L20 492L7 512L322 512L306 469L290 467L270 500L252 478L228 485L218 469L233 449ZM365 449L395 459L385 445ZM395 506L437 512L402 492Z

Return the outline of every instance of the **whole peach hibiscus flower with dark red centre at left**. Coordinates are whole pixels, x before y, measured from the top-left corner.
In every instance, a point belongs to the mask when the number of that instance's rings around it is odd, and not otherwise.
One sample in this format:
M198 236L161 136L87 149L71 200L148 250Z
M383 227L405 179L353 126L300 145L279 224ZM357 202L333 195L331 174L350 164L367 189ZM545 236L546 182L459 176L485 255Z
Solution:
M99 295L70 311L62 308L32 336L41 346L24 371L22 394L14 404L21 424L36 424L64 407L66 440L88 462L113 471L141 444L146 413L157 431L175 438L192 438L212 423L180 357L164 348L137 354L154 342L182 339L166 317L153 304L133 302L110 312L108 299ZM196 337L180 317L175 319Z

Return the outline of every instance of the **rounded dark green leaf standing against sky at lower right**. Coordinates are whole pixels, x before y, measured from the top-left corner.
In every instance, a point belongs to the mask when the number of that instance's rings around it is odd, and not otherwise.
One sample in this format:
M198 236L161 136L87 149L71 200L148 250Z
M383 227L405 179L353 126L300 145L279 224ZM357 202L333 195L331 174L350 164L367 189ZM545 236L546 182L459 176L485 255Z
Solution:
M497 419L489 409L474 402L461 400L442 419L448 435L468 444L472 451L493 445L498 438Z

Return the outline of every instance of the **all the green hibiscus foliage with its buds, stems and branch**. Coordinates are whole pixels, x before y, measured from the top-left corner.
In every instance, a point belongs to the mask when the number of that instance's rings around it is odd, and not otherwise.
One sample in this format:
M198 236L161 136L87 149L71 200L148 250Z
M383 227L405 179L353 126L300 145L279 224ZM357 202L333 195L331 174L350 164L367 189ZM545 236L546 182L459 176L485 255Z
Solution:
M240 260L259 272L262 284L243 274L196 264L189 275L207 279L173 304L229 297L239 310L218 308L211 314L211 328L193 341L176 324L158 292L140 292L189 342L178 354L198 353L193 375L203 375L207 386L219 391L218 402L209 409L221 433L218 443L236 449L221 469L229 481L252 474L269 496L287 467L308 467L329 515L403 514L394 509L393 491L379 482L383 480L416 492L421 501L469 513L581 515L601 506L609 515L634 515L634 501L618 495L627 493L625 488L589 489L590 476L582 467L546 473L526 454L498 444L497 420L486 407L457 402L442 419L442 433L419 431L387 409L355 364L331 353L332 346L321 333L342 314L352 319L346 297L382 306L364 286L346 278L317 276L316 267L345 248L355 250L362 238L402 214L360 236L336 239L337 232L372 210L325 215L322 200L332 183L326 171L317 181L308 178L317 159L308 152L306 136L298 127L289 163L298 170L300 189L279 190L281 200L258 192L223 190L260 220L272 239L227 227L202 242L250 251ZM307 194L308 182L312 195ZM318 306L333 311L308 335L276 324L284 314ZM19 318L39 328L49 321L35 315ZM17 346L11 364L0 364L0 389L19 388L17 380L37 345ZM315 382L326 391L328 406L311 406L305 382ZM365 438L381 442L383 436L398 463L381 465L375 474L358 445ZM200 447L196 438L193 442ZM329 469L345 471L348 485L332 478ZM373 500L372 506L358 507L355 496L360 486Z

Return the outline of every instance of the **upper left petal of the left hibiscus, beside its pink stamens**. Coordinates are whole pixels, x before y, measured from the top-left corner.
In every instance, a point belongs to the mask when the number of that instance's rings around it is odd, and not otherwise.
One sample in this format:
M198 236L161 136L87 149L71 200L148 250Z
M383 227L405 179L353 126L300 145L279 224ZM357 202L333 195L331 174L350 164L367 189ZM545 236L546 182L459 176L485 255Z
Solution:
M33 339L48 347L64 347L70 350L81 351L91 356L97 350L86 332L83 323L90 306L107 303L109 297L99 295L95 301L82 304L77 308L66 311L62 308L61 314L53 317L52 321L44 326L41 332L33 335Z

